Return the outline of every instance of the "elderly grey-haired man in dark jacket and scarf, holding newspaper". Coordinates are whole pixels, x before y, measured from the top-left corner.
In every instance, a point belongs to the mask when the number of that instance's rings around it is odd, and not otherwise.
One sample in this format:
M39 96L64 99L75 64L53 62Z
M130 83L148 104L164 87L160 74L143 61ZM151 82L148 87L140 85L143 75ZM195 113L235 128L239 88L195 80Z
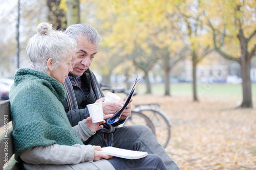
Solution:
M71 61L73 71L63 83L67 98L62 104L71 125L75 126L79 121L89 116L88 104L104 101L104 95L99 88L96 77L89 68L97 53L101 36L89 24L81 23L68 27L66 34L76 40L77 49L73 52ZM105 115L115 113L122 108L123 104L102 103L103 113ZM117 127L130 114L131 105L129 104L119 122L112 125L104 124L104 128L92 133L84 144L100 145L101 147L113 146L156 154L162 158L168 169L179 169L146 126Z

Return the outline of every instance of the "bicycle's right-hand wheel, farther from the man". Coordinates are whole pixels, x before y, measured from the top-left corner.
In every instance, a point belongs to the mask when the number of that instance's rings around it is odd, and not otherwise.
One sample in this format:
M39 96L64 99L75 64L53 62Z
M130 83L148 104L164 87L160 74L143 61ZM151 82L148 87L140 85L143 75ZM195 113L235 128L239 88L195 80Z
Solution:
M156 137L163 148L165 148L170 139L170 128L172 126L167 115L162 110L152 106L141 106L134 110L150 118L155 127Z

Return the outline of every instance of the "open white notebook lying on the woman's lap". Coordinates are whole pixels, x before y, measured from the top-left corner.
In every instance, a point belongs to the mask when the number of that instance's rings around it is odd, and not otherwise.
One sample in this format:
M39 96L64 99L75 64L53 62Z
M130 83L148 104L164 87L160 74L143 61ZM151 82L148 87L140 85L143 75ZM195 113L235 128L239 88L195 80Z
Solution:
M124 158L124 159L140 159L148 155L147 152L125 150L125 149L120 149L115 147L105 147L105 148L102 148L102 151L100 152L106 155L111 155L111 156Z

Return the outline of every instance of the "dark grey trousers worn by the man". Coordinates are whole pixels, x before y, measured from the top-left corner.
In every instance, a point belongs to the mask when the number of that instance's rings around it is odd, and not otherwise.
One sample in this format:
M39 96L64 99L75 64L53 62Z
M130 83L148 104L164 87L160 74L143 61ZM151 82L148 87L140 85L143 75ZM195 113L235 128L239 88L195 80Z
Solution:
M86 144L102 145L102 141L95 134ZM132 125L118 127L113 133L113 147L133 151L143 151L148 154L158 155L166 165L167 169L180 169L177 164L168 156L155 135L144 125Z

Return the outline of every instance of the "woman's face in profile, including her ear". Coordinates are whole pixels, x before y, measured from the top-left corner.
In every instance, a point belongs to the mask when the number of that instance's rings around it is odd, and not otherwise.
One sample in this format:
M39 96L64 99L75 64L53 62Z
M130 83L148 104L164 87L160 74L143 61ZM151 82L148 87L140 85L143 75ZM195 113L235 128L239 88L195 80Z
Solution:
M52 78L56 79L58 82L63 83L65 79L67 78L69 72L72 72L72 66L71 66L71 60L72 60L72 53L66 58L63 58L60 61L60 64L57 68L53 69L51 64L52 58L49 58L47 63L48 64L48 69L50 70L48 72L48 75L51 76ZM52 61L53 62L53 61Z

